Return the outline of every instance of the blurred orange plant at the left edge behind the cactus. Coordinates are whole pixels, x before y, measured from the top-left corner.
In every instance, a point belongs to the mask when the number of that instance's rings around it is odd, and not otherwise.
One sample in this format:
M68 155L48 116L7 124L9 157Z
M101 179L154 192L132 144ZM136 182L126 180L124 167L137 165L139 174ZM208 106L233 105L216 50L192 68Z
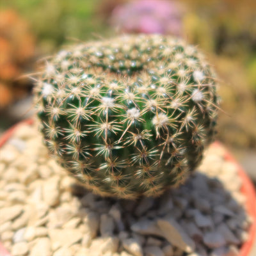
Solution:
M34 38L28 24L13 10L0 12L0 108L26 93L28 88L15 81L34 54Z

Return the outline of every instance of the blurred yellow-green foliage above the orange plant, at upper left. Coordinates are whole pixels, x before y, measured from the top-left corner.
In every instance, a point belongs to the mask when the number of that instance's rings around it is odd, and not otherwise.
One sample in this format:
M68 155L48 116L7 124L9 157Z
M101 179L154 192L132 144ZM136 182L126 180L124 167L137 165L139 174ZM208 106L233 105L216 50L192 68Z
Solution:
M104 35L106 26L95 15L99 3L100 0L3 0L0 8L14 8L28 20L38 38L40 52L44 54L70 38L87 40L92 38L92 33Z

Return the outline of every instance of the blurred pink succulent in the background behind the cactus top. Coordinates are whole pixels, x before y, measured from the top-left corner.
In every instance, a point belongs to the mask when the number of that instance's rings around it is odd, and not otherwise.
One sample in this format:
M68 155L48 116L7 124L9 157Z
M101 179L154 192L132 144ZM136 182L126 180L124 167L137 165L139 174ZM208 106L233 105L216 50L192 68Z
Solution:
M139 0L116 6L111 24L125 33L182 35L182 8L175 1Z

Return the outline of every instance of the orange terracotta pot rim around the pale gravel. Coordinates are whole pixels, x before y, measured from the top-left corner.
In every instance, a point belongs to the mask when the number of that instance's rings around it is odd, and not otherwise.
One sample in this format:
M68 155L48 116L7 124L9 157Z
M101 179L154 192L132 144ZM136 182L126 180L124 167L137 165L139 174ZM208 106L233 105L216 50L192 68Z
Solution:
M31 119L25 120L22 123L33 124L33 120L31 120ZM19 124L14 125L10 129L8 129L6 132L4 132L4 134L0 138L0 147L2 147L4 145L4 143L6 143L6 141L8 141L8 139L10 139L12 137L12 134L15 131L15 129L17 129L17 127L19 127ZM223 145L220 142L218 142L218 141L214 142L212 144L212 147L217 147L217 148L220 148L220 150L224 150L225 159L236 164L237 169L238 169L238 174L241 177L241 180L243 181L242 187L241 187L241 192L247 198L246 209L248 211L248 214L252 217L253 222L252 222L252 225L249 230L248 240L243 244L243 246L241 246L239 256L248 256L248 255L250 255L250 252L253 248L253 243L255 242L255 238L256 238L256 193L255 193L255 189L252 184L252 181L250 180L250 178L248 177L246 172L244 172L243 168L239 165L239 163L237 163L236 159L234 159L234 157L230 154L230 152L228 152L228 150L225 149L225 147L223 147ZM1 243L0 243L0 256L12 256L3 247L3 244L1 244Z

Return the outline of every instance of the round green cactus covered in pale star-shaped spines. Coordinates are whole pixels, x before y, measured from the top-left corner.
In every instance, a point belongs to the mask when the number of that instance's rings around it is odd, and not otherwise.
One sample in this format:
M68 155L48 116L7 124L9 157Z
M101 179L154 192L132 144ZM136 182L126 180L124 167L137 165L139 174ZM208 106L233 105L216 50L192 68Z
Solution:
M177 38L77 45L47 60L36 80L45 145L102 196L158 196L180 184L215 133L216 78Z

